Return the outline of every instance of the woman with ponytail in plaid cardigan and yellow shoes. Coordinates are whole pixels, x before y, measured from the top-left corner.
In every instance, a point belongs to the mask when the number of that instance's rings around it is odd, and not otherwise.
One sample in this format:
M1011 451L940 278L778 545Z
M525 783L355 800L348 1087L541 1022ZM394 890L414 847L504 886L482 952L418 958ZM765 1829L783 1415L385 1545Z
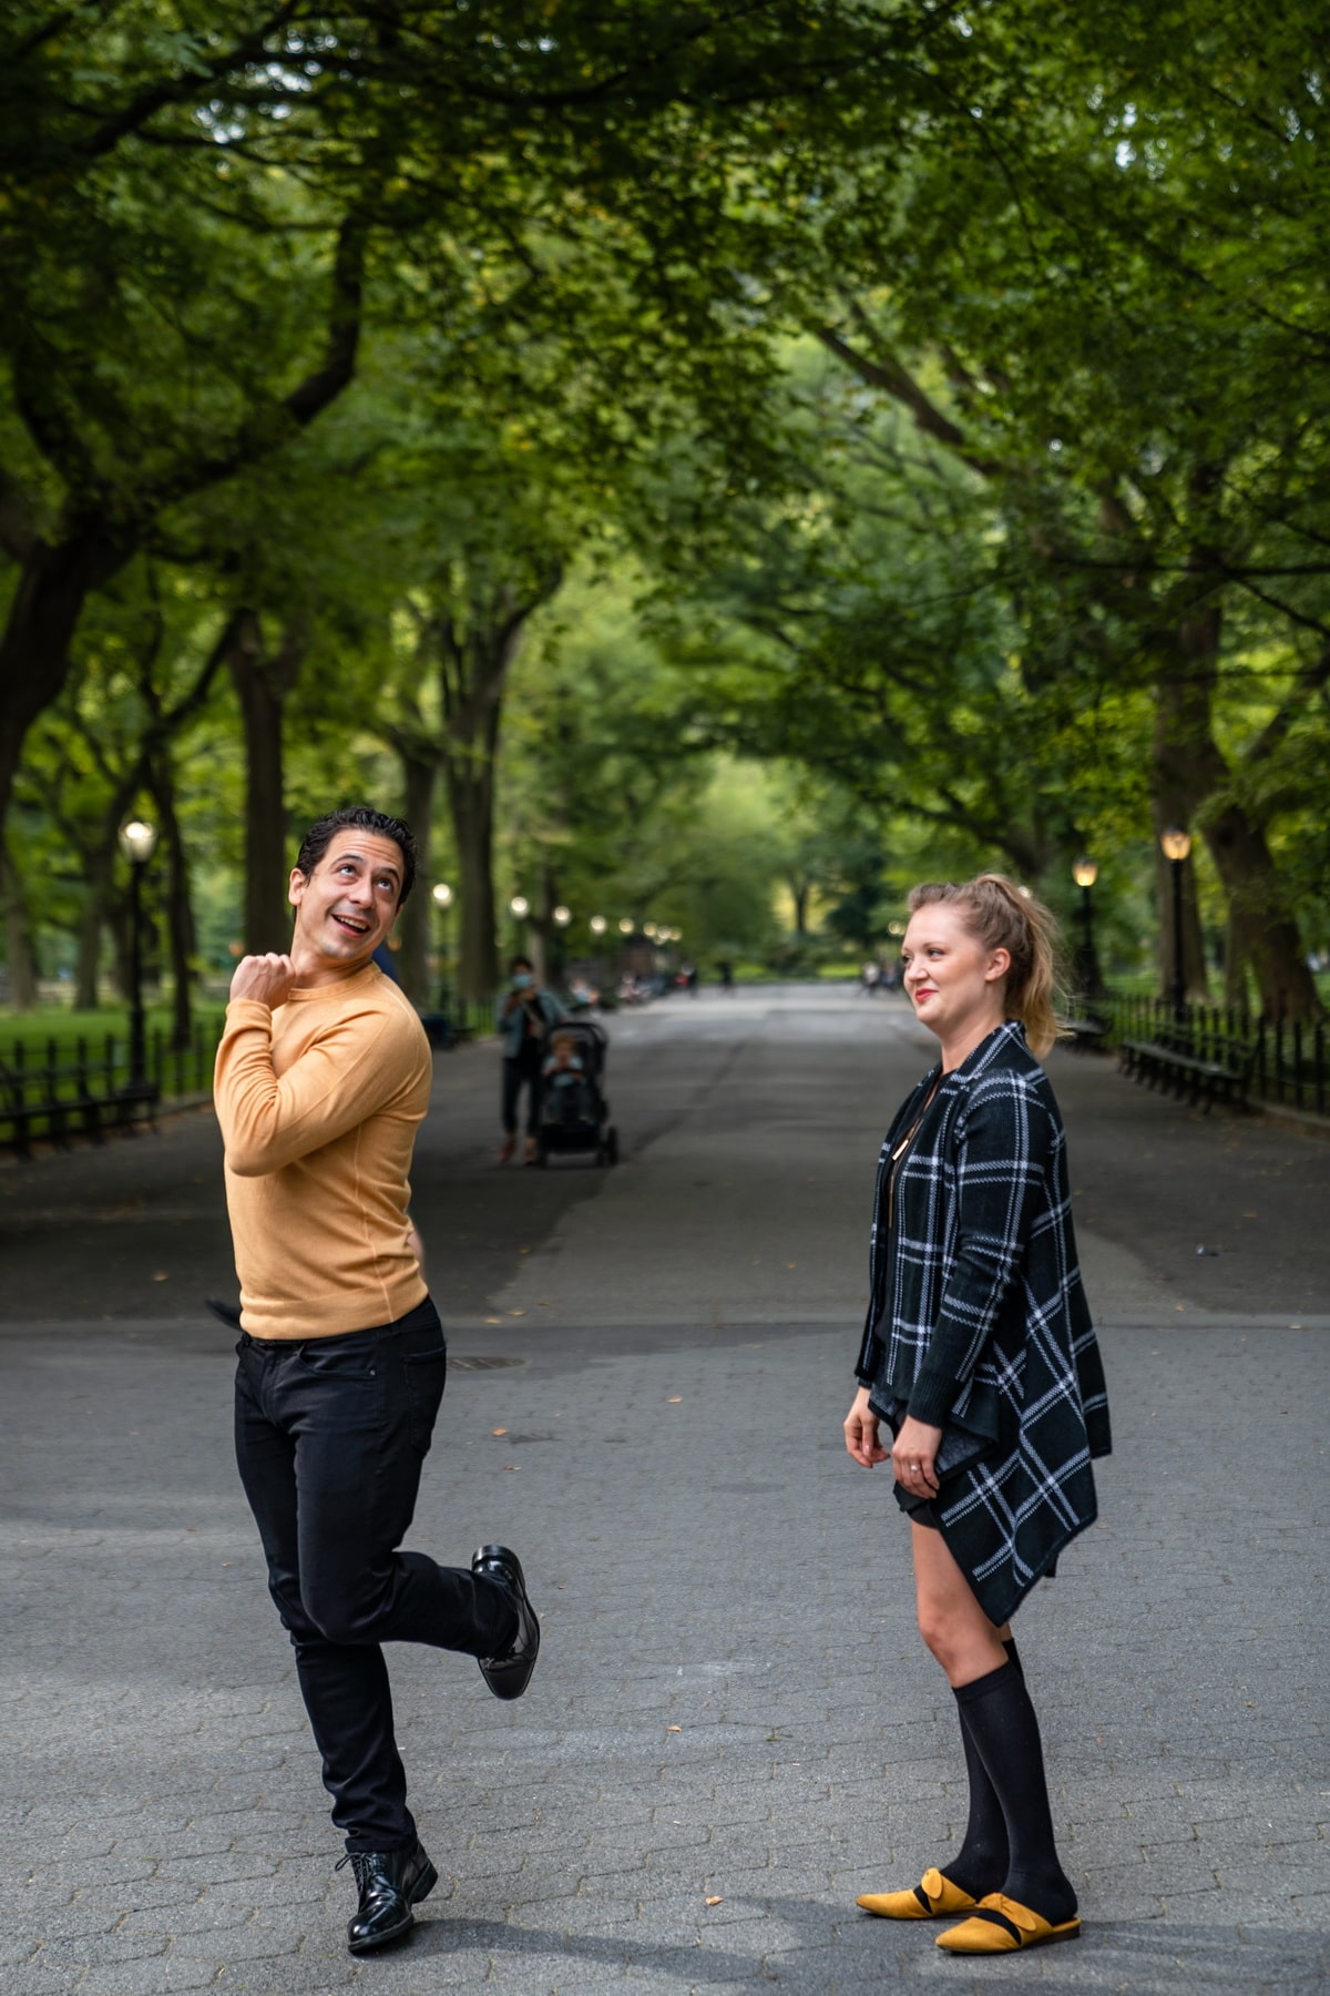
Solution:
M1081 1932L1011 1615L1095 1519L1109 1403L1063 1122L1035 1058L1057 1038L1053 918L1001 874L919 886L909 908L905 990L941 1064L881 1150L845 1447L895 1473L919 1629L957 1701L969 1824L955 1858L913 1890L859 1906L891 1920L969 1914L937 1944L1001 1954Z

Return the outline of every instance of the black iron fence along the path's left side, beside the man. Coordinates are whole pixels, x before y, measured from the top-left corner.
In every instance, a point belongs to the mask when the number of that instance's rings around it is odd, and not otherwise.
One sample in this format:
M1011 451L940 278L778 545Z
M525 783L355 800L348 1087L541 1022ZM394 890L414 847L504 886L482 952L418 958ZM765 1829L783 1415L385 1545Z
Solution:
M195 1020L189 1040L150 1032L144 1072L134 1074L128 1034L0 1040L0 1148L28 1156L34 1142L94 1142L110 1128L150 1120L162 1102L205 1098L221 1020Z

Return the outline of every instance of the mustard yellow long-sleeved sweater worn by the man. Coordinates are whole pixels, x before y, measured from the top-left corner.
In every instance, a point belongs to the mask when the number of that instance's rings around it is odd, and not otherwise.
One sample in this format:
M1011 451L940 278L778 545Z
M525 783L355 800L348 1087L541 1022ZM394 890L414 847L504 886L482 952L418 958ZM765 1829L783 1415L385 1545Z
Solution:
M269 1012L227 1006L213 1104L253 1337L331 1337L425 1301L407 1246L429 1042L377 964L293 990Z

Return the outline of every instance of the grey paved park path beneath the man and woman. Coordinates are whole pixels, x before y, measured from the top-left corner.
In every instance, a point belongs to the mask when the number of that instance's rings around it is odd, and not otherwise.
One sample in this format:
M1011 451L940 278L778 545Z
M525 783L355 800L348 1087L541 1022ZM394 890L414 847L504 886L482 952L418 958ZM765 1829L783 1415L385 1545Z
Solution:
M1085 1938L967 1964L853 1908L965 1814L885 1473L839 1439L931 1042L796 986L612 1036L612 1174L497 1172L495 1050L437 1064L413 1539L516 1545L544 1653L502 1707L395 1651L441 1882L361 1962L197 1309L233 1287L211 1116L0 1170L0 1996L1324 1988L1330 1142L1053 1058L1119 1445L1019 1633Z

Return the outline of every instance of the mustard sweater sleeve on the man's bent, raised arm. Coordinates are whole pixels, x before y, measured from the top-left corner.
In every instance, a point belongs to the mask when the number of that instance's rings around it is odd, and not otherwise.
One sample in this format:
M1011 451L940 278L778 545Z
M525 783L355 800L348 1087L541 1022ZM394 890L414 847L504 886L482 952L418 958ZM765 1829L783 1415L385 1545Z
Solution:
M385 1108L411 1078L415 1050L383 1012L329 1018L301 1058L277 1078L273 1016L253 998L227 1006L217 1048L213 1106L225 1162L237 1178L265 1178L321 1150Z

